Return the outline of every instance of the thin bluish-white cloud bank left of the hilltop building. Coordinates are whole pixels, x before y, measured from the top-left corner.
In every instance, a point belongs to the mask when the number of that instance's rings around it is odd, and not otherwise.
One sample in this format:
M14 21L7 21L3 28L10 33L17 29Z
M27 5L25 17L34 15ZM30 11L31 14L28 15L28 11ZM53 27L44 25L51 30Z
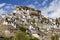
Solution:
M12 4L6 4L6 3L0 4L0 15L9 13L11 10L15 9L15 7L16 5L12 5Z

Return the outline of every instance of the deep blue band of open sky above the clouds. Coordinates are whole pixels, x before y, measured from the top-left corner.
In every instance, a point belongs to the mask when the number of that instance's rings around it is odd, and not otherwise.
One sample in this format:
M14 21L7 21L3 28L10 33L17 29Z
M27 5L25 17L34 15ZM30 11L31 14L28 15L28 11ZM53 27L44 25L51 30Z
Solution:
M53 0L47 0L45 4L43 4L43 2L46 0L0 0L0 4L1 3L6 3L6 4L12 4L12 5L22 5L22 6L26 6L26 5L30 5L33 4L36 7L44 7L44 6L48 6L50 4L50 2L52 2Z

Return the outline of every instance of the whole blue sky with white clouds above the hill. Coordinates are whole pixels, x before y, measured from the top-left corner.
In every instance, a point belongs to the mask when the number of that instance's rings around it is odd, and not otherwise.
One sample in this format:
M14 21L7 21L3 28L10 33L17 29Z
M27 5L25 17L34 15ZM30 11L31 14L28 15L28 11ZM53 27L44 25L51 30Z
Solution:
M45 17L60 17L60 0L0 0L0 15L11 13L17 5L41 10Z

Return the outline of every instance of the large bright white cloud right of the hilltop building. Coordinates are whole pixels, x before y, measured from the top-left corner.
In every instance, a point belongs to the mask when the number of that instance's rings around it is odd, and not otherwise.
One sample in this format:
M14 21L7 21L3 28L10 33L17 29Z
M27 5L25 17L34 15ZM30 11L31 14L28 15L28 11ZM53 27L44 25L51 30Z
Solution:
M53 11L53 12L51 12ZM51 12L51 14L48 14ZM44 7L42 13L46 17L58 18L60 17L60 0L54 0L50 3L49 7Z

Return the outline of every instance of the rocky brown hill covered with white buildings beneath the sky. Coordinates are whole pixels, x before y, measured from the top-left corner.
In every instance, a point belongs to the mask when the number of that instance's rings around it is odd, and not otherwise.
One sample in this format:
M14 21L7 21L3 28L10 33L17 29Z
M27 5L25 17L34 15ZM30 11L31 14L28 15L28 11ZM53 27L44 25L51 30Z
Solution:
M11 14L3 14L0 20L0 36L3 37L14 37L17 32L23 31L40 39L42 36L50 37L52 28L60 30L60 18L56 20L46 18L40 10L26 6L17 6ZM46 38L44 39L46 40Z

